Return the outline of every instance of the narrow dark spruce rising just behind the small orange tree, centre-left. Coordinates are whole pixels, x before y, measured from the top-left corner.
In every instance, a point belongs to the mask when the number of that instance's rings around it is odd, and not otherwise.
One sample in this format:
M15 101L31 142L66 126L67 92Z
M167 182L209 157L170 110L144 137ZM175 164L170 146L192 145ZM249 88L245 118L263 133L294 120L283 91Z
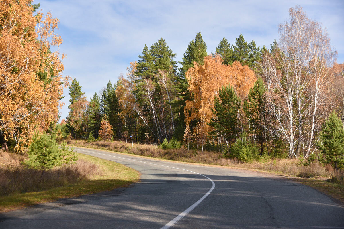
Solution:
M113 133L117 138L121 136L121 119L119 113L120 105L116 96L116 85L112 85L109 80L106 88L101 94L100 107L103 115L107 115Z

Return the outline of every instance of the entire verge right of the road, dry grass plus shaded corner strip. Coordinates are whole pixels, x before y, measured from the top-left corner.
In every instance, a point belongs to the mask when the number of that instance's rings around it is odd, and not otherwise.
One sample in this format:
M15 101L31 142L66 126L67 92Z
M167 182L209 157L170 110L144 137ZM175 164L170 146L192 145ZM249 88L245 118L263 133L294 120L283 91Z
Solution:
M191 164L215 165L234 169L247 169L251 171L267 172L289 176L295 182L308 185L326 195L336 199L338 203L344 204L344 185L325 181L330 178L333 171L331 167L324 168L319 163L309 166L300 165L297 159L276 159L266 161L254 161L251 163L240 163L233 159L220 158L216 152L207 152L203 154L188 153L187 150L162 150L157 146L131 144L125 142L90 142L84 140L69 140L68 144L76 147L86 147L101 149L109 152L129 153L137 156L159 158ZM301 178L300 178L301 177Z

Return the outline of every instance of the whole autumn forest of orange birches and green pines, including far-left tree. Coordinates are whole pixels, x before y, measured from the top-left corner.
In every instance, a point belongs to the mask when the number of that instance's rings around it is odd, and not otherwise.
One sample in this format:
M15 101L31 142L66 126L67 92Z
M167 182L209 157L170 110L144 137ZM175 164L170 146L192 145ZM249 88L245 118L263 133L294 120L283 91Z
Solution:
M0 6L2 149L22 153L40 130L60 142L133 140L241 162L303 158L344 168L344 63L301 7L262 47L242 34L207 47L200 32L176 60L159 38L87 100L78 79L63 76L68 60L52 51L62 43L58 19L24 2ZM67 87L69 114L58 123Z

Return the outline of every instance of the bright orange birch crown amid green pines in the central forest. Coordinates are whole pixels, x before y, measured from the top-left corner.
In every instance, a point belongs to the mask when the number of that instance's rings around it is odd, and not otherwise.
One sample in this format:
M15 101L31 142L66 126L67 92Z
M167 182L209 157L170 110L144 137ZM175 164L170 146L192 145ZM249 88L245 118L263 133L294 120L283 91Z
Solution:
M194 67L189 68L185 77L193 97L193 100L186 101L185 122L189 125L192 120L199 121L198 125L202 126L198 127L202 130L202 144L209 131L207 123L214 115L212 108L219 89L231 85L243 99L257 80L255 73L248 66L242 66L238 61L234 61L232 65L224 65L219 55L204 57L203 65L194 62Z

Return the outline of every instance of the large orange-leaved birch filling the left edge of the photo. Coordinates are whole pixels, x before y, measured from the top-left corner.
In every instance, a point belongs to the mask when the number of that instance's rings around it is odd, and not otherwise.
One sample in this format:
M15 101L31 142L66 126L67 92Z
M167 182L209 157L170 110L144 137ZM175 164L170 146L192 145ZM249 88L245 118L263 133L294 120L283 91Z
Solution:
M1 0L0 4L0 142L15 150L30 144L35 129L45 130L58 118L64 67L55 34L58 19L41 12L33 16L32 0ZM64 58L62 54L61 58Z

